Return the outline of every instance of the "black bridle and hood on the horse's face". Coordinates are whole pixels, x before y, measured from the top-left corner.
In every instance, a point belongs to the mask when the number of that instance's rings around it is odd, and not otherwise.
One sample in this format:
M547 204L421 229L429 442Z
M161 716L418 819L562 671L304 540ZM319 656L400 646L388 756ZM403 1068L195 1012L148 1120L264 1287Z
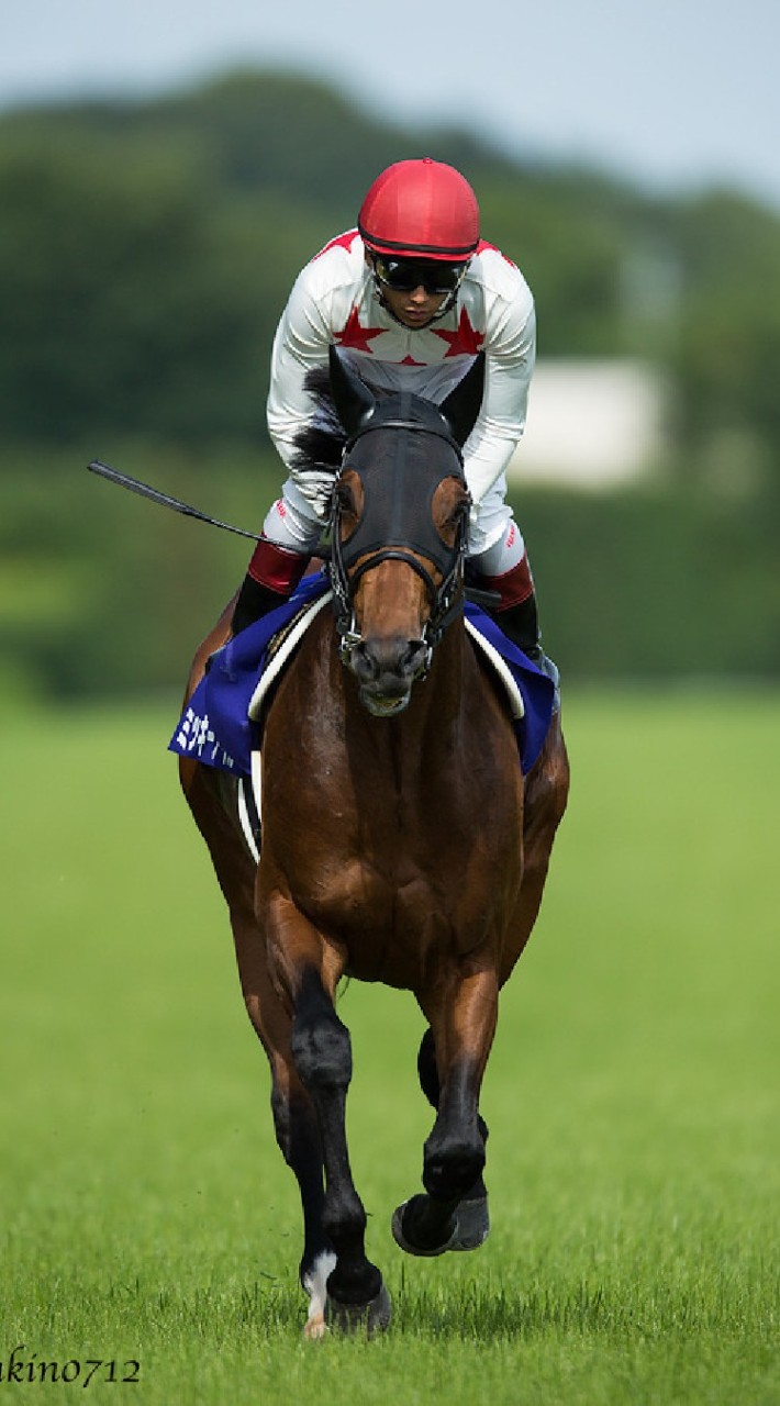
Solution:
M420 404L420 402L417 402ZM462 562L465 554L468 531L468 499L464 499L462 513L458 520L455 541L451 547L438 536L430 512L430 503L438 485L446 478L464 479L462 450L453 437L450 427L436 406L426 406L433 415L423 420L412 416L382 418L381 411L370 416L356 434L344 446L342 470L333 488L330 502L330 561L327 571L333 591L333 609L336 613L336 631L339 634L339 657L343 664L350 664L354 650L361 644L363 636L357 630L354 616L354 593L363 576L378 567L382 561L403 561L422 579L429 600L430 614L423 627L423 644L426 655L419 676L424 676L430 668L433 651L447 626L462 612ZM394 463L385 468L384 478L389 479L391 526L386 517L381 517L372 506L372 494L367 486L370 477L379 478L382 460L386 451L378 456L365 453L365 441L379 430L399 430L415 436L429 436L443 440L455 456L455 465L429 467L424 470L419 464L408 465L408 457L399 453L401 446L394 440ZM419 457L419 456L416 456ZM377 458L379 468L377 468ZM353 470L364 486L364 509L357 529L346 543L342 541L342 519L344 513L344 492L342 475ZM385 486L385 501L388 499L388 484ZM374 485L378 495L378 485ZM379 520L378 520L379 519ZM385 546L386 541L392 546ZM441 582L437 586L431 572L419 560L424 557L440 574ZM356 562L360 560L360 564Z

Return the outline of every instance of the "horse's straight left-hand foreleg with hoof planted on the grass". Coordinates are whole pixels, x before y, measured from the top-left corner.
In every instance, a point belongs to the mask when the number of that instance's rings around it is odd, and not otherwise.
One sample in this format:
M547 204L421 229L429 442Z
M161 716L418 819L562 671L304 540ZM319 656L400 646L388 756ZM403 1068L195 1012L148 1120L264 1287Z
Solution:
M322 1225L336 1253L327 1275L326 1316L342 1327L365 1323L374 1330L389 1322L389 1298L378 1268L365 1256L367 1218L349 1160L346 1099L351 1043L333 1005L333 987L340 973L332 972L333 986L326 983L320 960L315 957L319 948L322 959L319 936L313 929L306 934L309 925L298 914L287 911L284 922L287 942L280 967L292 1001L291 1050L298 1077L316 1111L325 1161ZM291 942L292 928L297 941ZM306 941L309 936L313 943Z

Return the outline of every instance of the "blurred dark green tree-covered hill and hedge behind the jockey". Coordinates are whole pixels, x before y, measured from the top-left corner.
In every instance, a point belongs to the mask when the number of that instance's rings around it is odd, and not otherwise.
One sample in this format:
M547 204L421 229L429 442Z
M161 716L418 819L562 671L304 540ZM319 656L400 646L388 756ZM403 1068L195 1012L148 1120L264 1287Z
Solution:
M542 357L639 357L673 387L652 479L513 488L566 678L780 675L780 217L510 162L246 72L0 115L6 697L181 686L247 544L86 463L259 527L281 482L264 399L290 285L377 172L423 152L468 176L523 267Z

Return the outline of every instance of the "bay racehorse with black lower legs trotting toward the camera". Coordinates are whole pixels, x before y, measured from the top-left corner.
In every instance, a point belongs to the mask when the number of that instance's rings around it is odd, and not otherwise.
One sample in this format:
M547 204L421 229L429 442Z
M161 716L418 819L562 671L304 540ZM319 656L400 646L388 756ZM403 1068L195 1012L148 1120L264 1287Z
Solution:
M476 1249L489 1229L479 1090L498 997L540 910L569 780L559 713L523 775L505 700L464 626L462 446L482 359L441 405L377 399L334 349L329 380L344 446L334 609L302 636L264 714L259 862L226 799L232 779L180 758L299 1187L312 1339L327 1326L372 1333L391 1317L350 1170L339 983L412 991L427 1022L417 1070L434 1122L423 1191L392 1215L396 1244L415 1256ZM187 697L229 640L232 606L195 655Z

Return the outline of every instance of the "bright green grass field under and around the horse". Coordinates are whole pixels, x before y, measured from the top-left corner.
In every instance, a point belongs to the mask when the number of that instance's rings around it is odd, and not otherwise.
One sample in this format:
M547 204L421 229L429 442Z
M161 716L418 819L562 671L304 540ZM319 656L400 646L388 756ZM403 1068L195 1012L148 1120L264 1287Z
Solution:
M392 1243L430 1126L422 1019L349 987L353 1163L395 1301L372 1343L301 1339L295 1184L174 721L1 720L0 1406L14 1385L117 1406L780 1402L780 697L568 700L571 810L502 1002L476 1254ZM34 1385L41 1362L73 1384Z

